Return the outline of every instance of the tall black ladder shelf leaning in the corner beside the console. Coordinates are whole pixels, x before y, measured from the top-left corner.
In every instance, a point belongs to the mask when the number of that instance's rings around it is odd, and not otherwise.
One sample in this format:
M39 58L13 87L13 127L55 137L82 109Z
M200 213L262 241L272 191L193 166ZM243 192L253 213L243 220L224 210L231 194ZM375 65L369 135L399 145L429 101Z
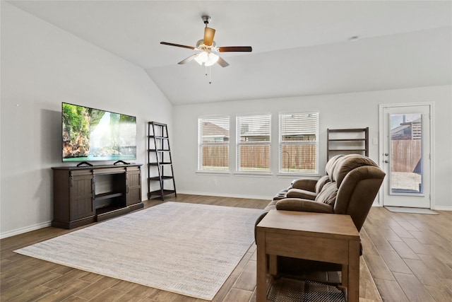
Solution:
M148 199L163 200L169 194L177 197L168 127L160 122L148 122Z

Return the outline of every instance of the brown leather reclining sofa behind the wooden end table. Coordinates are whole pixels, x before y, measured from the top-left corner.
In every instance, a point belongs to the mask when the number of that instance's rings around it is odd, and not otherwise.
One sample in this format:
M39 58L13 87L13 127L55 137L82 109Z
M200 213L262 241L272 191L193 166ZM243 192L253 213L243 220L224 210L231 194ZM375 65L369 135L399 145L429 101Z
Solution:
M314 199L289 197L290 192L294 190L292 187L287 190L286 198L273 199L268 204L264 213L257 219L256 225L270 209L278 209L347 214L352 217L357 230L360 231L386 173L370 158L350 154L331 158L326 165L326 174L328 180L323 180L319 192L315 192L312 185L305 189L298 187L295 190L300 196L306 194L302 190L313 192ZM313 194L308 193L309 195ZM326 262L278 257L278 272L282 273L297 274L309 271L340 271L340 269L340 265Z

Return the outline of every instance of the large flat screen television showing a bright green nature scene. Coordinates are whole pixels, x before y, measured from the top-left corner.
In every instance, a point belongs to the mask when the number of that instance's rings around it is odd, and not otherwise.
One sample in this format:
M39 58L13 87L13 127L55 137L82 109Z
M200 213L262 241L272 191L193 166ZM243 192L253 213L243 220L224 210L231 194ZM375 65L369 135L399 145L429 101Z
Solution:
M62 103L63 162L136 159L136 117Z

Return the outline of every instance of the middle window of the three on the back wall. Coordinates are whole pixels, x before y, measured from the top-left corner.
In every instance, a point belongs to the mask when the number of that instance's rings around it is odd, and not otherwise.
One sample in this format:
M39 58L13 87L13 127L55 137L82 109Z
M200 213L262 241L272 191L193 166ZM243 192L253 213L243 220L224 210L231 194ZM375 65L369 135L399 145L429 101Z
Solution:
M237 171L270 172L271 115L237 117Z

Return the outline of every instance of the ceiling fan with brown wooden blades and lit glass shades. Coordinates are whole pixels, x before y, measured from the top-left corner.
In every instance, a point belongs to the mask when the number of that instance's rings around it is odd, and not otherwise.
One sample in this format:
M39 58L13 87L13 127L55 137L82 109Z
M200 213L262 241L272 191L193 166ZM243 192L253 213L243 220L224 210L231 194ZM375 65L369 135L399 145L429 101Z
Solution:
M191 60L195 60L198 64L204 66L212 66L215 63L218 63L222 67L229 66L224 59L222 59L216 52L251 52L251 46L227 46L227 47L217 47L213 37L215 35L215 30L213 28L208 28L207 25L210 21L209 16L202 16L204 24L206 24L206 28L204 28L204 37L202 40L198 40L196 42L196 47L186 46L180 44L174 44L169 42L160 42L162 45L176 46L176 47L184 47L190 50L198 50L199 52L196 54L192 54L190 57L183 59L179 64L185 64L190 62Z

